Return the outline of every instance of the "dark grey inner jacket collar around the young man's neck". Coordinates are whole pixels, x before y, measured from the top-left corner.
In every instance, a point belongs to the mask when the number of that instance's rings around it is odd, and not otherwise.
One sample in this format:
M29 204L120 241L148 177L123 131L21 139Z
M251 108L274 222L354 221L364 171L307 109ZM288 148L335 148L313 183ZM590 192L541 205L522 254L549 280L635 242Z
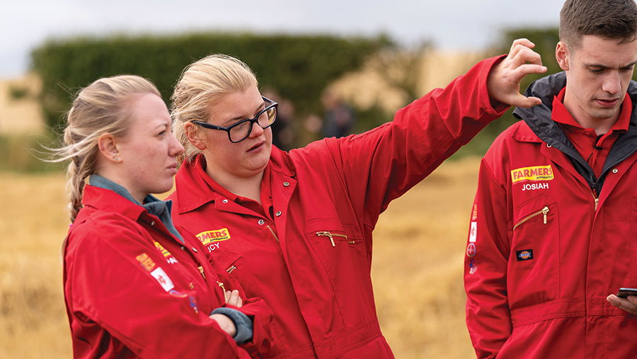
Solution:
M635 106L637 104L637 82L631 81L627 92L631 97L633 109L631 111L631 121L629 130L617 137L613 147L610 149L608 157L604 162L602 173L599 178L595 178L595 172L585 159L580 156L573 143L566 137L566 134L558 126L557 122L551 120L553 110L553 98L566 86L566 73L559 72L534 81L529 85L524 96L534 96L540 98L541 105L532 108L515 108L513 115L515 118L527 122L531 130L546 144L560 150L570 159L575 169L580 173L595 193L602 192L604 178L610 169L619 164L624 159L637 152L637 114Z

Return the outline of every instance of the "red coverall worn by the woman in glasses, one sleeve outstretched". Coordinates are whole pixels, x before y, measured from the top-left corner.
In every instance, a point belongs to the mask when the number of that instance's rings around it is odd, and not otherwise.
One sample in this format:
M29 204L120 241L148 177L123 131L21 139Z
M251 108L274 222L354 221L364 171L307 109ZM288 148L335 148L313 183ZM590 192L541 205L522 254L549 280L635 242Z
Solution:
M391 200L500 116L504 109L491 107L486 89L496 60L362 135L289 154L272 147L263 180L270 186L261 187L272 198L271 218L215 191L201 155L180 167L169 197L173 219L248 295L272 307L273 356L393 358L374 306L372 229Z

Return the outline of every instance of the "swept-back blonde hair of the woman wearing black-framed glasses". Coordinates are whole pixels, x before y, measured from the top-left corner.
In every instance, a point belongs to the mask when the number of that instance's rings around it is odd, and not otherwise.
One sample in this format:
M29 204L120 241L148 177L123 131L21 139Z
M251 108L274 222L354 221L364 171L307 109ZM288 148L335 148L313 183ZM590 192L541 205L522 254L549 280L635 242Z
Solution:
M186 122L207 122L211 103L228 93L245 91L257 84L250 67L228 55L210 55L188 65L171 96L173 133L185 149L179 161L191 160L201 152L188 141L183 130Z

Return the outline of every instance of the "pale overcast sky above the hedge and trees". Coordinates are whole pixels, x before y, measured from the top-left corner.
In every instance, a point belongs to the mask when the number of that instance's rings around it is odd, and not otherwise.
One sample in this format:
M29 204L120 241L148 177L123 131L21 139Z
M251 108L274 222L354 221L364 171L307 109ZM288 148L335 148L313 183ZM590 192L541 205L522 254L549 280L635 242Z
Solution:
M5 0L0 11L0 77L28 69L47 38L109 33L249 30L258 33L387 33L400 42L433 40L473 50L503 28L557 25L561 0Z

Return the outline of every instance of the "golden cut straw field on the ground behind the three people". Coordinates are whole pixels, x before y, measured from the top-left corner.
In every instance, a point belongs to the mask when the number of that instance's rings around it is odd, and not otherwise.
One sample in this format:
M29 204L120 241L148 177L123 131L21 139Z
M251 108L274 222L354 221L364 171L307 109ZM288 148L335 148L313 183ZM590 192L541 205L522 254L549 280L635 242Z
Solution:
M447 161L374 231L374 281L396 358L471 358L462 258L478 159ZM0 172L0 358L69 358L59 246L64 175ZM187 338L183 338L187 340Z

